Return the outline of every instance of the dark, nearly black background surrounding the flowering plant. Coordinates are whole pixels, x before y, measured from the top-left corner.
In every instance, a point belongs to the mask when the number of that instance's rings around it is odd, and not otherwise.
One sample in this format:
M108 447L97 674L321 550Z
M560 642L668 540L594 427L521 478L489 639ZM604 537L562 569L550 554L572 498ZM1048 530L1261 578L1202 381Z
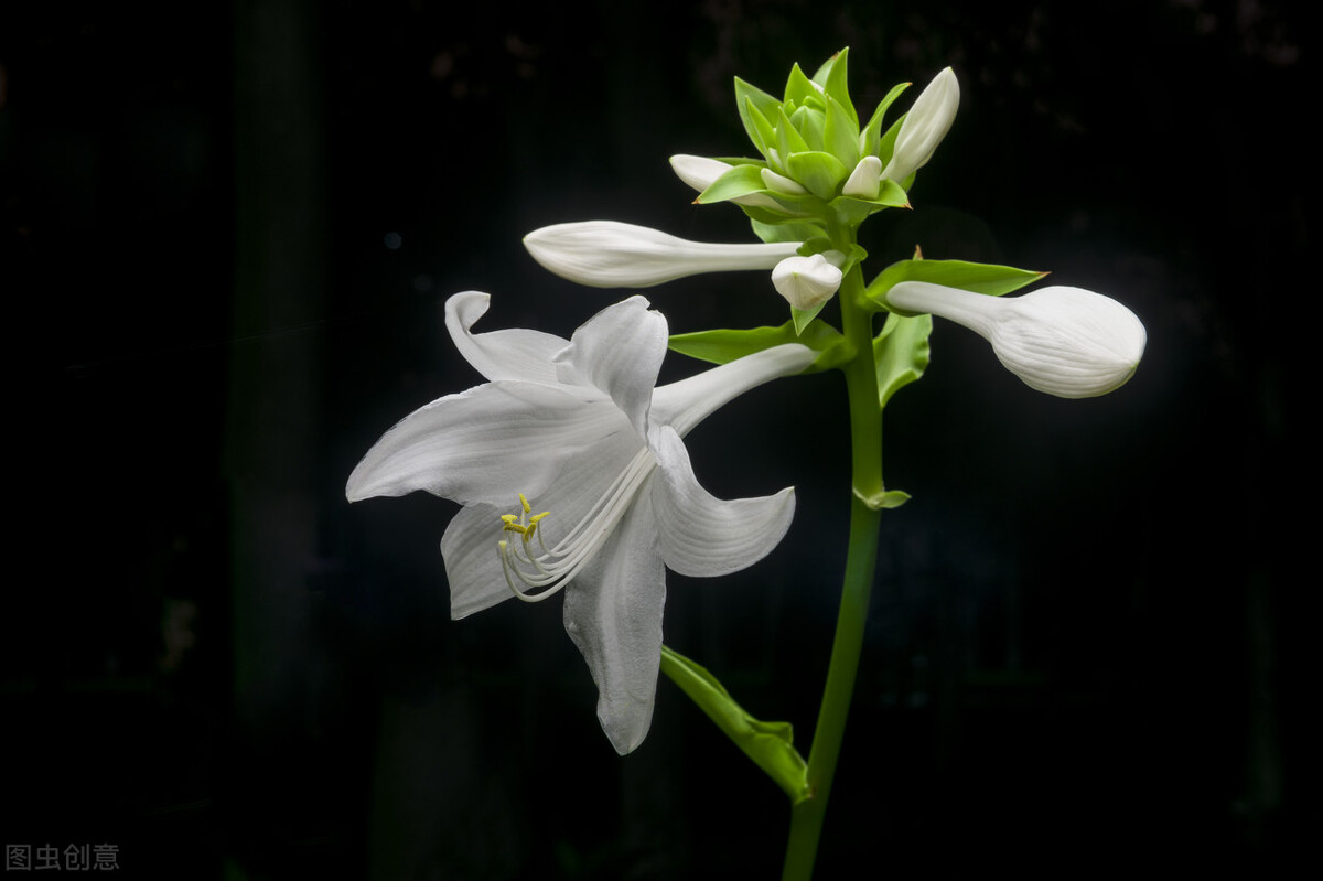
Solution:
M0 7L0 837L111 843L126 877L775 877L782 795L671 683L618 758L558 603L450 622L455 505L343 485L479 380L448 294L562 335L619 299L549 276L527 231L751 241L667 157L747 153L732 77L779 93L848 45L861 112L962 83L916 210L867 229L872 271L916 243L1052 270L1130 306L1148 351L1060 401L937 328L888 409L914 499L884 526L819 876L1271 874L1323 829L1302 5ZM759 274L648 296L673 331L785 317ZM668 581L668 643L806 751L843 418L818 376L695 431L714 493L799 508L749 571Z

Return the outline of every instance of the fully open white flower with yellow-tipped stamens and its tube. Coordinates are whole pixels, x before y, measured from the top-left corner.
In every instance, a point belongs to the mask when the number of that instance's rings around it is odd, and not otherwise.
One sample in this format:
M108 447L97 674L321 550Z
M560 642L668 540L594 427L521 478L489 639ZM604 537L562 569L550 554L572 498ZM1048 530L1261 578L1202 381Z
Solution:
M509 597L565 590L565 630L598 687L620 753L652 720L665 566L721 575L770 552L794 491L721 501L681 438L726 401L814 358L781 345L654 389L667 323L634 296L573 339L471 333L486 294L446 303L446 327L488 382L405 417L349 476L351 501L425 489L464 505L441 541L456 619ZM544 513L533 513L536 509Z

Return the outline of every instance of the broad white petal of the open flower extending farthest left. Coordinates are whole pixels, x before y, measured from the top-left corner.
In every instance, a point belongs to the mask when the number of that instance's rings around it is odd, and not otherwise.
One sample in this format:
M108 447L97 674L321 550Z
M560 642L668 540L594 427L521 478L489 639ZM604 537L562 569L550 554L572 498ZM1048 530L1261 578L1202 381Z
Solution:
M423 489L463 504L508 504L508 487L540 492L561 463L627 430L607 398L533 382L487 382L414 410L349 475L345 496Z

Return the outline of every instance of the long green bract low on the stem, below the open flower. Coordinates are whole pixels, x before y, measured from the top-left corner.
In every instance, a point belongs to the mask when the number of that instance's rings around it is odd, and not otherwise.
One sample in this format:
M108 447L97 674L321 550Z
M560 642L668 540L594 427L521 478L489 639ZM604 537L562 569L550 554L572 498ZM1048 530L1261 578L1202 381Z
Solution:
M662 647L662 672L790 796L791 804L810 796L808 765L794 747L790 722L754 718L704 667L665 646Z

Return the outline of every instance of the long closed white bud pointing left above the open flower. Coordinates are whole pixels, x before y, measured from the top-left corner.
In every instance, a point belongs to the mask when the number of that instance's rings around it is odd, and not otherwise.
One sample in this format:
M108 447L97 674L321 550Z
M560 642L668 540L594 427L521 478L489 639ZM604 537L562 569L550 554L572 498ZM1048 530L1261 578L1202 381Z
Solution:
M714 245L617 221L556 224L524 237L544 269L591 287L652 287L699 273L771 269L800 242Z

